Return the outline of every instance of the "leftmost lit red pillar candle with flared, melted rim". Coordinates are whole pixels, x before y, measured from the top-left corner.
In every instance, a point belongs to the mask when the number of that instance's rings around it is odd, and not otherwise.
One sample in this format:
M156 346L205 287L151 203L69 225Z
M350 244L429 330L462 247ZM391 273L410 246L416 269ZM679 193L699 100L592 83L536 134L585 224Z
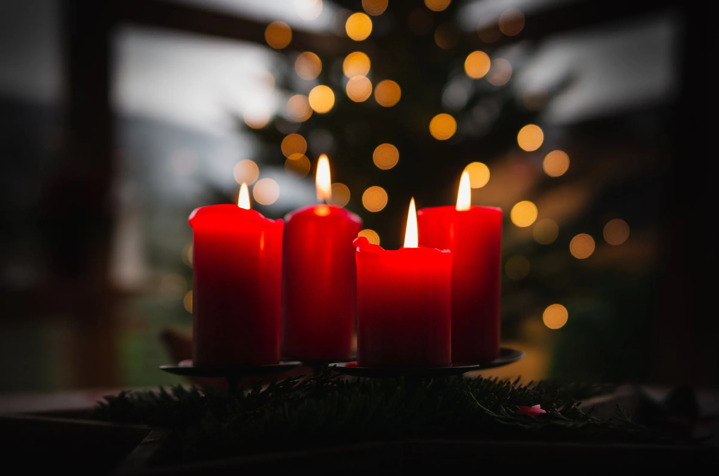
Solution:
M280 360L283 220L240 206L193 211L193 363L266 365Z

